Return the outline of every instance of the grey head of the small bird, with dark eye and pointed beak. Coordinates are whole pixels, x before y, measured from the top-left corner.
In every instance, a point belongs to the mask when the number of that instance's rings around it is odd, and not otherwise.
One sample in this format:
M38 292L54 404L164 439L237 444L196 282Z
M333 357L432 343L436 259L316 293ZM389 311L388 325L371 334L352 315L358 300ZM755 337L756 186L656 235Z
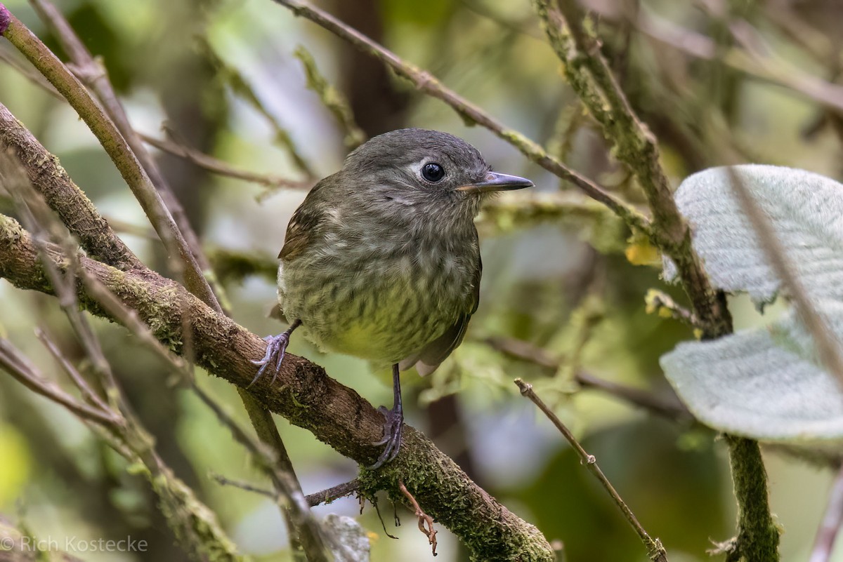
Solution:
M412 205L416 212L473 216L486 194L533 185L492 172L480 151L438 130L400 129L375 136L346 158L342 174L357 197Z

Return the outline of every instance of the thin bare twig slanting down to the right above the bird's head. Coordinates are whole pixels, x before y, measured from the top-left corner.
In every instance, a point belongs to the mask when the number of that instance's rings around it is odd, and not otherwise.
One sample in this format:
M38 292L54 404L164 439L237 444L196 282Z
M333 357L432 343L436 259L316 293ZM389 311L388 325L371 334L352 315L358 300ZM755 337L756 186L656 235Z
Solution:
M409 80L416 89L432 98L437 98L447 103L453 108L466 123L471 125L481 125L486 129L491 130L495 135L509 144L513 145L524 156L527 156L533 162L536 162L541 167L544 167L549 172L556 174L559 178L566 179L573 183L577 188L581 189L583 193L587 194L592 199L605 204L615 212L615 215L620 216L626 221L626 224L635 227L643 232L649 231L649 220L644 217L637 209L631 205L617 199L614 195L609 194L603 188L600 188L597 183L591 179L586 178L579 172L575 172L569 167L566 167L562 162L559 162L555 157L545 151L539 144L533 140L529 140L524 135L518 133L513 129L508 129L502 125L497 119L490 114L470 103L468 100L462 98L453 90L444 87L436 77L433 77L429 72L423 71L416 66L413 66L403 61L399 56L395 55L390 50L387 50L383 45L379 45L375 41L369 39L366 35L357 31L346 24L343 24L339 19L336 19L330 13L316 8L310 3L302 2L301 0L272 0L279 3L285 8L289 8L298 16L303 16L315 24L329 30L342 39L348 41L362 52L374 56L384 65L389 66L400 77Z

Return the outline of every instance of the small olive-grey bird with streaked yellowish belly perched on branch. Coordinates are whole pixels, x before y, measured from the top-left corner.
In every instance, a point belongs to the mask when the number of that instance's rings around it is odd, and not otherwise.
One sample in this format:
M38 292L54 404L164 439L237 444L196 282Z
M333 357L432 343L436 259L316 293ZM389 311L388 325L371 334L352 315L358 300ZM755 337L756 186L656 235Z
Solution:
M275 376L298 326L326 351L392 365L394 405L384 452L395 458L404 414L400 371L431 374L459 346L480 296L474 218L490 194L528 188L492 172L454 135L401 129L352 151L339 172L310 190L287 225L278 255L278 302L291 324L269 342L255 383Z

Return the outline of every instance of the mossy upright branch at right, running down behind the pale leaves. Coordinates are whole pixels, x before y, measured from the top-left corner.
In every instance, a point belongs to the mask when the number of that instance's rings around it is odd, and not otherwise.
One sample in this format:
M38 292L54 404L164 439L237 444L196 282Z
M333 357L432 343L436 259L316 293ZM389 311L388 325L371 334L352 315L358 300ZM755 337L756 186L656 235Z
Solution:
M533 0L550 45L562 61L565 77L583 105L603 128L615 156L635 173L653 216L651 240L670 257L693 304L703 337L732 331L725 297L711 286L691 247L690 229L668 186L658 156L658 144L647 125L632 110L626 95L600 52L590 20L572 0ZM772 525L764 464L757 442L727 437L738 501L735 559L768 562L778 559L779 536ZM738 446L739 445L739 446ZM738 475L736 471L740 471Z

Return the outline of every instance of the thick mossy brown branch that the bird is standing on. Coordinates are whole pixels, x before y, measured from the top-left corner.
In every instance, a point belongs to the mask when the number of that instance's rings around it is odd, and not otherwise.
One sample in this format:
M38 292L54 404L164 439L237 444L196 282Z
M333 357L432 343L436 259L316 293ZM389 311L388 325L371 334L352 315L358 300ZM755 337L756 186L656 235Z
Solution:
M47 252L56 268L66 267L59 248L48 245ZM241 389L250 383L255 374L250 358L266 352L266 342L260 337L158 273L121 272L88 257L81 257L80 264L119 295L122 304L153 329L158 341L184 353L185 337L190 337L197 364ZM35 242L4 215L0 215L0 278L21 289L51 294ZM83 308L108 317L82 283L77 285L77 294ZM186 334L185 323L189 327ZM277 384L271 385L269 378L260 379L248 394L359 464L372 464L379 455L379 448L372 443L381 437L383 416L357 392L330 379L323 368L304 358L287 354ZM412 427L405 428L404 437L393 462L377 471L362 469L362 494L371 497L376 490L388 490L397 499L401 497L398 481L403 480L422 509L457 534L476 559L553 559L550 545L538 529L475 485L427 437Z

